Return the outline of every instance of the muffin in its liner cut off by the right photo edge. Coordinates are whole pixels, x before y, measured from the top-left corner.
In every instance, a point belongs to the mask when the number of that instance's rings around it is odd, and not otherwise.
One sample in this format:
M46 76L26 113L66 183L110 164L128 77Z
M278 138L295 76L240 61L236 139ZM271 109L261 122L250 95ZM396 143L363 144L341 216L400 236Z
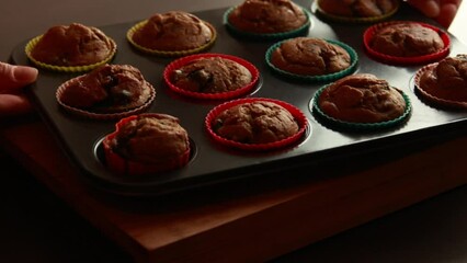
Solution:
M467 55L447 57L420 69L415 87L431 102L467 107Z

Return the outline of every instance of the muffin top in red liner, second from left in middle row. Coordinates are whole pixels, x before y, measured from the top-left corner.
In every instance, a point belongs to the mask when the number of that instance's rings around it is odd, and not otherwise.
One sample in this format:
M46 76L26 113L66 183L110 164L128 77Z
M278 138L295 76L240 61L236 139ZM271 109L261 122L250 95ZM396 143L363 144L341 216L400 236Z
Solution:
M198 58L173 71L172 83L183 90L219 93L237 90L252 81L242 65L226 58Z

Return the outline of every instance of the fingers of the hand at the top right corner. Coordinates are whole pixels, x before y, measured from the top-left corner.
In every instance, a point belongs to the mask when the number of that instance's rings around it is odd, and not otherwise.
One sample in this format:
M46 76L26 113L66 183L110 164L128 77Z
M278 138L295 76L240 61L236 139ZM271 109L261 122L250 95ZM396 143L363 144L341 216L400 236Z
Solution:
M407 0L407 2L447 28L456 16L462 0Z

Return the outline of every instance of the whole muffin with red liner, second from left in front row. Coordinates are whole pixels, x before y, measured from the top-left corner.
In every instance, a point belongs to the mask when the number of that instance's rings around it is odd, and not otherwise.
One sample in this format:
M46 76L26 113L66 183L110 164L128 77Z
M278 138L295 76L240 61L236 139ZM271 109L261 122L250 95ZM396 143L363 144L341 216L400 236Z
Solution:
M295 106L272 99L239 99L220 104L206 117L216 142L243 150L271 150L298 140L306 117Z

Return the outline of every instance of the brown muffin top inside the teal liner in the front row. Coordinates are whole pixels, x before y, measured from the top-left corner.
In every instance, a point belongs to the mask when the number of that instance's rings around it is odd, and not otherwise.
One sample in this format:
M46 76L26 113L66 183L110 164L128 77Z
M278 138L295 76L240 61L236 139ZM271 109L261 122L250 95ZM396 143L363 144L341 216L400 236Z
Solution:
M379 123L395 119L406 111L401 93L374 75L344 77L328 85L319 96L321 111L351 123Z

